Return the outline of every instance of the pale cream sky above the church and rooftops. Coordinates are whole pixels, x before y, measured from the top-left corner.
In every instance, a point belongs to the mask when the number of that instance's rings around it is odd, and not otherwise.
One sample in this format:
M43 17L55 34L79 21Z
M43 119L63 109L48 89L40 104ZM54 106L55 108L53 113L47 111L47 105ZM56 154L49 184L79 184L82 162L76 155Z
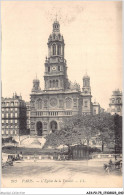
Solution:
M122 90L122 2L117 1L2 1L2 96L16 92L29 101L36 74L44 89L56 14L69 80L82 88L87 71L92 101L107 109L112 91Z

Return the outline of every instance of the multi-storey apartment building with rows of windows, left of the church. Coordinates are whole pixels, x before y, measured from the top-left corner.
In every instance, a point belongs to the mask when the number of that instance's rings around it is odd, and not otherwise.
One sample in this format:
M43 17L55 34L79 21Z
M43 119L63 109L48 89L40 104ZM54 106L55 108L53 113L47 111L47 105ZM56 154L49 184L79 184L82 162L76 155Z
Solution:
M21 96L13 94L12 98L3 98L2 137L23 135L26 133L26 104Z

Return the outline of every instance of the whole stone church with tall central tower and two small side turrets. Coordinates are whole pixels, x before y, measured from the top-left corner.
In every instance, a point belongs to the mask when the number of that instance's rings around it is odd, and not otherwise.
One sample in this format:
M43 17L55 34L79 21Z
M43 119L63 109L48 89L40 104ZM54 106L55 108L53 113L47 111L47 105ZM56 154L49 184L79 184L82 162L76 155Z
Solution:
M53 23L47 45L44 90L36 78L30 94L30 134L37 136L60 130L65 117L93 112L90 77L87 74L83 77L82 90L79 84L68 79L65 43L57 20Z

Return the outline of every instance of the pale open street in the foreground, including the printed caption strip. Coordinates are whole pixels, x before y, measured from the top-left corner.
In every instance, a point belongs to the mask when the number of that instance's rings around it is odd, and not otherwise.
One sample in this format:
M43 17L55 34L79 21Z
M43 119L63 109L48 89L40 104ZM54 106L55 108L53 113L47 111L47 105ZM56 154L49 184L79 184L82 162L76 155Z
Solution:
M3 168L3 187L122 187L119 172L107 175L103 160L16 162Z

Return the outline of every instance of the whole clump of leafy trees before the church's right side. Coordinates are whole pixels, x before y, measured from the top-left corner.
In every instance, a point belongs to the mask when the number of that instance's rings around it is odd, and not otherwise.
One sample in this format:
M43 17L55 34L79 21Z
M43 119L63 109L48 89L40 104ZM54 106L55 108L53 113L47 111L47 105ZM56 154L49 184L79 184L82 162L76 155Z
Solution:
M75 115L65 118L63 127L47 136L45 146L59 146L72 144L86 144L95 137L96 141L101 141L102 152L104 146L109 143L115 144L115 152L118 147L122 147L122 117L113 116L109 113L98 115Z

